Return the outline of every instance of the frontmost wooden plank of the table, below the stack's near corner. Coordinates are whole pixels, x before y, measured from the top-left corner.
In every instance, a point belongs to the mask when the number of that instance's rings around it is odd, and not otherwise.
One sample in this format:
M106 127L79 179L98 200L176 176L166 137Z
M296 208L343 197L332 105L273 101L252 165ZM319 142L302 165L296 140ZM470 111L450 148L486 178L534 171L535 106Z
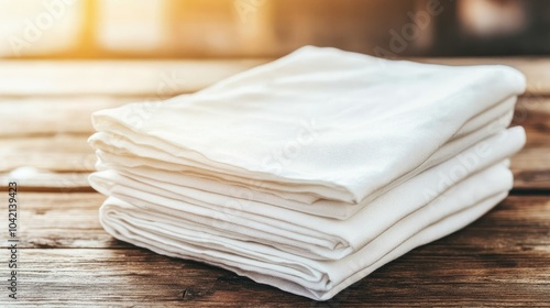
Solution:
M6 253L3 253L6 254ZM548 257L525 253L393 262L326 302L143 250L22 250L19 305L55 307L548 307ZM502 260L506 263L502 263ZM1 297L0 305L12 304Z

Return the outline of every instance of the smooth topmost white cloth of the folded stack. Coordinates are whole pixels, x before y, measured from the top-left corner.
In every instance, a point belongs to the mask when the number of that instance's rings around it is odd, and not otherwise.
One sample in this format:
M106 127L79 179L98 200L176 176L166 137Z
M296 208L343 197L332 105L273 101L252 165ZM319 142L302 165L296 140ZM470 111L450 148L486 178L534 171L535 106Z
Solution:
M506 66L308 46L158 106L96 112L94 124L249 186L244 179L359 204L524 90L524 76Z

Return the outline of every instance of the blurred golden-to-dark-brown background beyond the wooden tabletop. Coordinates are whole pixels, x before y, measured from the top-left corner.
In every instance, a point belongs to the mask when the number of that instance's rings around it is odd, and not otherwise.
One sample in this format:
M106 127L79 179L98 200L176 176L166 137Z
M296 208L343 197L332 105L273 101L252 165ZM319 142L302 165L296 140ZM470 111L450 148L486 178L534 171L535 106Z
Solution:
M550 53L543 0L0 0L2 58Z

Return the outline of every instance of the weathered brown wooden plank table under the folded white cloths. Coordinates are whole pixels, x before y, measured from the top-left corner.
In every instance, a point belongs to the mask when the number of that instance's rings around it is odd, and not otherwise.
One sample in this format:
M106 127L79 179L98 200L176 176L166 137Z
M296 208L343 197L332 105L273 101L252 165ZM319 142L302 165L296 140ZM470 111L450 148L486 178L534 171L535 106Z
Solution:
M8 298L8 193L19 182L16 304L100 306L550 306L550 58L419 59L504 63L528 77L515 124L510 196L470 227L316 302L228 271L120 242L98 221L87 184L90 112L191 92L265 61L0 63L0 307Z

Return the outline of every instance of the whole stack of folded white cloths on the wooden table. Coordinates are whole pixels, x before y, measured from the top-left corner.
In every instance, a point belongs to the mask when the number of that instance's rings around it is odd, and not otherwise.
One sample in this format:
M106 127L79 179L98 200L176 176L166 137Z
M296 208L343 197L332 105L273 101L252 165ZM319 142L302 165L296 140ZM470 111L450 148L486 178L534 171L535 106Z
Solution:
M507 196L524 89L506 66L308 46L96 112L90 184L120 240L326 300Z

